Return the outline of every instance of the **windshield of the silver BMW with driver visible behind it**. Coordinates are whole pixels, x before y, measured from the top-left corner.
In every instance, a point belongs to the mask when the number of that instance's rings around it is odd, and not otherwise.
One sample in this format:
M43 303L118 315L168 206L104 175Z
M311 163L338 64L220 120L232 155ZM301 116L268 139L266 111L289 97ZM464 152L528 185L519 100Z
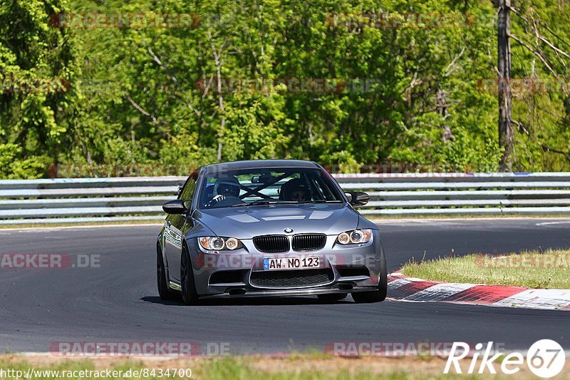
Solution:
M319 168L257 168L207 174L198 207L343 201L331 178Z

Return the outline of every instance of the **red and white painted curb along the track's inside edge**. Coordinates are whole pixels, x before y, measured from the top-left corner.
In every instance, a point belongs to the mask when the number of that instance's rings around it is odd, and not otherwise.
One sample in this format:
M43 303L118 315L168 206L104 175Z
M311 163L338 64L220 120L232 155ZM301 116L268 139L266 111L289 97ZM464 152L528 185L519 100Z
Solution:
M522 309L570 310L569 289L529 289L503 285L455 284L388 275L388 298L407 302L450 302Z

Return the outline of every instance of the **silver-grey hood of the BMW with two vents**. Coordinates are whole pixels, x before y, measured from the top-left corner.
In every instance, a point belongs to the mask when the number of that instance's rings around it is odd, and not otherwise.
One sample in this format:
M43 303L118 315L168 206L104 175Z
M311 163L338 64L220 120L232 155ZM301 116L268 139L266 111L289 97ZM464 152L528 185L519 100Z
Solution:
M337 235L358 226L358 213L346 203L259 205L199 210L195 218L218 236L251 239L258 235L319 232Z

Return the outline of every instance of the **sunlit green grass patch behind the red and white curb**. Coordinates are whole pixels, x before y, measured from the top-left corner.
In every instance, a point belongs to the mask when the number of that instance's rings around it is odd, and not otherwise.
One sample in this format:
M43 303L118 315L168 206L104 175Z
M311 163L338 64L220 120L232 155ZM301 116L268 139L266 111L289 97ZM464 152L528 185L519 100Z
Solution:
M402 272L406 276L434 281L570 289L570 250L412 261Z

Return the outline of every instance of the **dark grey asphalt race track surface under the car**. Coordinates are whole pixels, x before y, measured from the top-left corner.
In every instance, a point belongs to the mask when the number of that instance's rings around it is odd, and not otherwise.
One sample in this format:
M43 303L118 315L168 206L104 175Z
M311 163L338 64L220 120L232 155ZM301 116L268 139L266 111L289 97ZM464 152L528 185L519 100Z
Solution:
M549 222L552 222L549 224ZM388 269L411 257L570 247L570 221L381 222ZM53 342L229 343L233 353L322 350L331 342L497 342L570 349L570 312L386 300L323 304L316 297L161 302L160 226L0 230L1 253L100 255L100 267L0 269L0 352ZM390 297L390 294L388 294Z

